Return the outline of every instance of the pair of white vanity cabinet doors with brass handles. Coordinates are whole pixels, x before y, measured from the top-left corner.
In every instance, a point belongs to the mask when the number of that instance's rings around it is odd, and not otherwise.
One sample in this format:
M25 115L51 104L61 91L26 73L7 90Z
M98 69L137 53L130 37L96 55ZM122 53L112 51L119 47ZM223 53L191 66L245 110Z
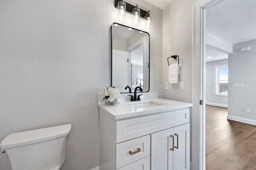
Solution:
M190 124L151 134L151 170L189 170Z

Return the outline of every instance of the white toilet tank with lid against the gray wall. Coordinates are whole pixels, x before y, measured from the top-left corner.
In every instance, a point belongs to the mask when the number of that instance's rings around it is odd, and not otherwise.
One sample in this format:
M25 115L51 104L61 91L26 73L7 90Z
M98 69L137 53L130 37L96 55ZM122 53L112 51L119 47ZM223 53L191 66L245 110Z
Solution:
M9 134L1 142L12 170L59 170L66 157L71 124Z

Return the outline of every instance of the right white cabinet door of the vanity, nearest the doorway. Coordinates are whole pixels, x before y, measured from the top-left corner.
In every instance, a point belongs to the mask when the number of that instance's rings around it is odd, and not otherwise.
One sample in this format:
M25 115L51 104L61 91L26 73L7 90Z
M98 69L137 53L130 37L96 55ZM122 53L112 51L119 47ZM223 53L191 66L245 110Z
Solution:
M181 125L173 128L174 135L174 154L173 169L190 169L190 124Z

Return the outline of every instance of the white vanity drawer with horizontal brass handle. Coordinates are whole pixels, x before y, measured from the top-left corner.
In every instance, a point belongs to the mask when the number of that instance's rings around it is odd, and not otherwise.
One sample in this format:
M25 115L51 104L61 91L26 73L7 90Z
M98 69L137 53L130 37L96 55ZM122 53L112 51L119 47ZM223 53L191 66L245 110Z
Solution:
M150 135L116 144L116 169L150 155Z

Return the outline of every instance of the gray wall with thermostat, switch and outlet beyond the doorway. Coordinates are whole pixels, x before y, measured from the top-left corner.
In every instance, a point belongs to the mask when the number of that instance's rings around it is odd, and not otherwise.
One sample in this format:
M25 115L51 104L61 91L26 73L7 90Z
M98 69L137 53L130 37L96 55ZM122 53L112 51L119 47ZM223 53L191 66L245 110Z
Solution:
M241 52L251 46L251 51ZM256 121L256 40L234 45L234 54L228 55L228 115ZM244 87L234 87L244 83ZM251 113L246 113L250 108Z

